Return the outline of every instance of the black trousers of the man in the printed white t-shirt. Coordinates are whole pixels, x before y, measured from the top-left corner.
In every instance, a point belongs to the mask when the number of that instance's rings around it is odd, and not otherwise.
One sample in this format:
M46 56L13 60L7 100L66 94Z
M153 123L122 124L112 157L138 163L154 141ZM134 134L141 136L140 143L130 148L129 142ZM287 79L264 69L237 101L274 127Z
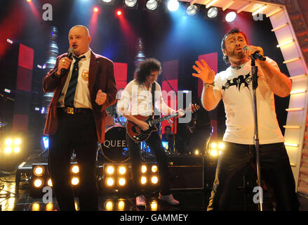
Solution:
M276 210L298 210L295 181L284 144L260 145L260 167L261 179ZM249 168L255 168L255 146L226 142L217 163L208 210L229 210L235 181Z

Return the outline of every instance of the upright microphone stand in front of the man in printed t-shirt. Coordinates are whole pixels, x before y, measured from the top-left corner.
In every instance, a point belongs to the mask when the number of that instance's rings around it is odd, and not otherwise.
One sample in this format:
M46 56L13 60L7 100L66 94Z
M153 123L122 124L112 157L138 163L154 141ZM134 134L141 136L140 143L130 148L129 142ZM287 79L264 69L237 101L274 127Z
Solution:
M253 77L253 113L255 116L255 160L257 165L257 186L261 187L259 133L257 129L257 66L255 58L251 57L251 75ZM259 195L259 210L263 211L263 193Z

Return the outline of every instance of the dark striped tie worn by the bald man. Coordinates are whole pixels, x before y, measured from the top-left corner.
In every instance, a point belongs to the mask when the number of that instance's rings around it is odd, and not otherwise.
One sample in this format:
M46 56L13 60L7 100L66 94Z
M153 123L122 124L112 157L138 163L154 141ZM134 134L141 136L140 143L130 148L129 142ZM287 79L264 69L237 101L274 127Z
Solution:
M67 87L67 93L65 95L65 107L74 107L74 96L79 74L78 63L79 60L81 60L81 58L86 58L86 56L82 56L80 58L74 56L74 58L75 58L75 63L72 70L72 77L71 80L69 81L69 86Z

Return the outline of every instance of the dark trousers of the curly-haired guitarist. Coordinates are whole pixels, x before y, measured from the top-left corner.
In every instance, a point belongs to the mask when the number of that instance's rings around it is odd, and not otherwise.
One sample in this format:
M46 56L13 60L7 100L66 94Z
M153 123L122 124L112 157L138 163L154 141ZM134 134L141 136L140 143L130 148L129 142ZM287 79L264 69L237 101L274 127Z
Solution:
M169 190L169 174L168 174L168 158L165 153L165 150L161 144L161 138L157 131L152 132L149 139L145 141L149 148L151 148L152 152L156 156L157 166L159 167L159 179L160 179L160 189L162 195L170 195ZM135 195L142 194L141 188L141 162L142 158L140 155L140 143L133 141L130 139L130 136L126 133L126 143L128 145L130 162L132 167L132 175L133 175L133 189Z

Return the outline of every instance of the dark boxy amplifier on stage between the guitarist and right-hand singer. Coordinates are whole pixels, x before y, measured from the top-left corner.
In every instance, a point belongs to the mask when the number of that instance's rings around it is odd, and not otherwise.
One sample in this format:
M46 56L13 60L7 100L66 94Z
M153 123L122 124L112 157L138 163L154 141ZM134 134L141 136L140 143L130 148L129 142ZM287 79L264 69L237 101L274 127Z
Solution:
M203 189L203 156L175 155L168 158L170 190Z

